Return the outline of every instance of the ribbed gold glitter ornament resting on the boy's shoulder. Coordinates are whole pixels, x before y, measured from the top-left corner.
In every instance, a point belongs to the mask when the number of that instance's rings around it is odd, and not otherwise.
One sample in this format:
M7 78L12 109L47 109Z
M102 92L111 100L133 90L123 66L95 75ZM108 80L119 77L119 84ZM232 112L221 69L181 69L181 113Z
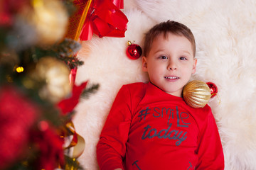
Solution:
M203 108L210 100L210 97L210 88L203 81L190 81L183 88L184 101L193 108Z

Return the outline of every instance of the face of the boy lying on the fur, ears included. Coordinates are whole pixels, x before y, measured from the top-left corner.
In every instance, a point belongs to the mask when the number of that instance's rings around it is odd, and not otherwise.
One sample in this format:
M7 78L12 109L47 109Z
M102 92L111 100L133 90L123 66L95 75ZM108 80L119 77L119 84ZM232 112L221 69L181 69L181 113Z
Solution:
M168 94L181 97L191 74L196 72L191 42L184 36L169 33L156 37L147 57L142 58L143 70L152 84Z

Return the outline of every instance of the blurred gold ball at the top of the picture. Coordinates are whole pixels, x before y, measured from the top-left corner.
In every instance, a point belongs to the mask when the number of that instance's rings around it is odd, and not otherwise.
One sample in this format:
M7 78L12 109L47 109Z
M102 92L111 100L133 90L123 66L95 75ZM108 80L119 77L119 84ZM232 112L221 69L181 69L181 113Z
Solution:
M28 20L36 28L38 44L49 45L63 38L68 13L60 0L33 0Z

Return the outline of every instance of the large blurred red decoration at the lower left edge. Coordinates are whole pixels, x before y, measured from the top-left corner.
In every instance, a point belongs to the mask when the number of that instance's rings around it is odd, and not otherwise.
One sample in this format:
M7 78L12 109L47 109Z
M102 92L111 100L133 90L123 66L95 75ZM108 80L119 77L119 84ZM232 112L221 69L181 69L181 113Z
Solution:
M0 169L21 157L38 108L14 86L0 87Z

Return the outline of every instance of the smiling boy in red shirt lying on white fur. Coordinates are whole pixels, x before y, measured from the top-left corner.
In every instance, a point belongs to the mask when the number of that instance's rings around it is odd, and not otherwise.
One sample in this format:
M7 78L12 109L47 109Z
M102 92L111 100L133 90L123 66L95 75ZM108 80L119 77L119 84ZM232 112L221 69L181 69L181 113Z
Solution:
M150 82L122 86L97 145L100 169L224 169L223 149L210 107L182 98L196 72L191 30L166 21L148 33L142 67Z

